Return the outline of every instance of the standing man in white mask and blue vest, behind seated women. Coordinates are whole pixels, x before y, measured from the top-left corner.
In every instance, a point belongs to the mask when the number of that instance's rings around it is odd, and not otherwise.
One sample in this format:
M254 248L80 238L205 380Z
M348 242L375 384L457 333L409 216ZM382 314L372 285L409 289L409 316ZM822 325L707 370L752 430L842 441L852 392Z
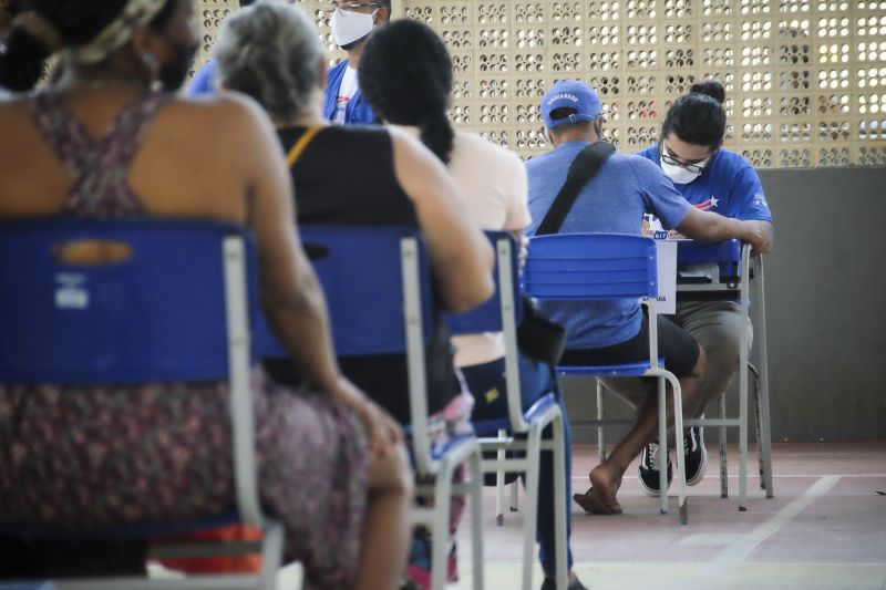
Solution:
M391 19L391 0L332 0L330 10L332 39L348 52L348 59L329 70L323 116L339 124L377 123L360 94L357 70L369 33Z

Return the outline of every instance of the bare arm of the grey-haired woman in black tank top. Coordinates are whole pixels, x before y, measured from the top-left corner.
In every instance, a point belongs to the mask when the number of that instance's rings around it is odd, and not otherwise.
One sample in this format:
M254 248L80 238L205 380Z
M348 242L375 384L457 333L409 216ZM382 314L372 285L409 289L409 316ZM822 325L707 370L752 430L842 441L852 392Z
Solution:
M436 156L408 132L389 130L394 173L415 206L443 306L466 311L481 304L494 290L488 240L465 214L455 180Z

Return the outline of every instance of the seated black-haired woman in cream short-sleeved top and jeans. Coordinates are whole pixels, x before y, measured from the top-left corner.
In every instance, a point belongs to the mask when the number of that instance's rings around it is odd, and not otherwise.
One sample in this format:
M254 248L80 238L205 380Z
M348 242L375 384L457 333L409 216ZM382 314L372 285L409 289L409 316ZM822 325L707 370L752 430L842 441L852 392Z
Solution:
M408 125L449 166L462 193L468 197L466 215L483 229L507 230L523 244L523 228L529 224L526 169L507 149L478 135L455 132L446 108L453 71L446 46L429 27L402 19L378 30L367 42L360 63L360 87L375 113L391 125ZM404 91L404 89L408 89ZM455 364L462 370L476 406L472 420L507 416L504 379L504 343L498 333L453 339ZM550 365L519 354L523 406L554 392L564 415L566 465L569 458L569 427L557 379ZM545 581L542 590L555 588L555 520L553 454L542 454L538 482L538 544ZM570 482L565 482L566 501ZM569 519L567 518L567 547ZM568 551L569 590L586 590L571 571Z

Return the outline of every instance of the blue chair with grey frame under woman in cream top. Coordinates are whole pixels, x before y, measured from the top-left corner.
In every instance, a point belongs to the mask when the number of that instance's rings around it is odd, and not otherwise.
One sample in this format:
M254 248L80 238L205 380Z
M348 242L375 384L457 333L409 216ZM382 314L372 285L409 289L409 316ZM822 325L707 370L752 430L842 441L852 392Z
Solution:
M517 321L521 312L519 282L517 281L517 251L514 238L503 231L487 231L495 248L495 294L487 302L466 313L450 314L446 321L453 335L480 332L503 332L505 342L505 381L507 383L507 417L475 422L483 451L495 451L497 459L484 460L483 472L498 475L504 483L505 472L526 473L526 511L523 532L523 589L533 588L535 563L536 515L538 510L539 460L543 451L554 453L554 495L556 519L557 588L566 590L568 565L566 560L566 473L563 453L563 420L554 393L548 393L524 412L521 402L519 365L517 353ZM552 437L542 439L544 429L552 425ZM501 431L509 436L499 436ZM514 435L525 435L515 438ZM523 452L524 457L505 458L505 452ZM499 487L499 489L503 489Z

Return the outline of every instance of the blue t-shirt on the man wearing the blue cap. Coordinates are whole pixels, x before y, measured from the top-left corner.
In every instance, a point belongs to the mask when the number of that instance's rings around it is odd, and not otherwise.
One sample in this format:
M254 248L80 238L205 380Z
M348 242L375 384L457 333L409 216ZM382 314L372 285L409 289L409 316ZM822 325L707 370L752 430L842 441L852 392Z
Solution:
M526 163L533 236L566 182L569 165L587 142L560 144ZM673 188L661 168L636 155L612 154L578 194L560 234L602 232L640 235L643 214L653 211L668 229L679 226L689 203ZM532 252L532 242L529 244ZM627 342L640 331L637 301L556 301L542 312L565 327L568 349L597 349Z

